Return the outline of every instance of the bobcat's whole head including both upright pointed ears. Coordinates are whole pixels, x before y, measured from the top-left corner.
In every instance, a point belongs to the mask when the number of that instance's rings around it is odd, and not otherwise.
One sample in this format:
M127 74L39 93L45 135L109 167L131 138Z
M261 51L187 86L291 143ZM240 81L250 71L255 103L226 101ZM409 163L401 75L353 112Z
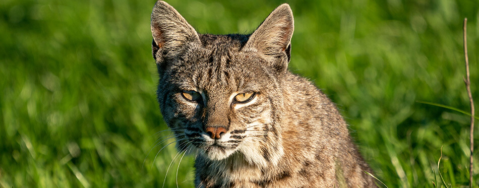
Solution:
M276 8L251 35L198 34L170 5L151 14L157 97L179 150L222 160L233 153L266 164L282 155L281 78L293 16Z

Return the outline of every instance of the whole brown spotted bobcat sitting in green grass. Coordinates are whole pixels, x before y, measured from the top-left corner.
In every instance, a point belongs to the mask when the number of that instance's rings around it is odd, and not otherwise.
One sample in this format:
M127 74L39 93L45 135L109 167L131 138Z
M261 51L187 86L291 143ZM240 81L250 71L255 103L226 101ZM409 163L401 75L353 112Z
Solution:
M170 5L151 14L157 99L197 187L376 187L336 106L287 70L293 15L250 35L199 34Z

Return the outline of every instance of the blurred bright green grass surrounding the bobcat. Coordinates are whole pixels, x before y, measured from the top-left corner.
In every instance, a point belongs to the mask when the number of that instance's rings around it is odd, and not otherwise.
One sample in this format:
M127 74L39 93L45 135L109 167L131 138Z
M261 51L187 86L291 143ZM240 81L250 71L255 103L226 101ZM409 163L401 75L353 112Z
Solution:
M0 1L0 187L162 186L176 151L169 145L155 160L169 143L154 147L156 139L169 133L155 134L167 128L155 99L154 3ZM289 69L338 104L376 176L389 187L432 187L444 146L445 181L468 184L469 118L415 101L469 110L464 17L479 101L476 1L168 3L197 31L212 34L252 32L289 3ZM177 161L165 187L176 187ZM193 162L185 157L179 165L179 187L193 187Z

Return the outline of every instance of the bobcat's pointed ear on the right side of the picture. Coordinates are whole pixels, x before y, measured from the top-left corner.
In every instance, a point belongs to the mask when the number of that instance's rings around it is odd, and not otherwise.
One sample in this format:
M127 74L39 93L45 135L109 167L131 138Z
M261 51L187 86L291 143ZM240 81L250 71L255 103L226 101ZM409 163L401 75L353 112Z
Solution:
M288 4L280 5L251 34L244 50L258 50L269 57L290 59L291 36L294 30L293 13Z

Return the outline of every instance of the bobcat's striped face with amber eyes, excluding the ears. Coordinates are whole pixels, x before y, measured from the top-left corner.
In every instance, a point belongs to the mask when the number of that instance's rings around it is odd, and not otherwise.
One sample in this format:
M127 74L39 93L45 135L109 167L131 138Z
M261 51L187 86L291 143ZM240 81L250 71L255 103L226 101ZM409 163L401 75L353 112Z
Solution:
M276 81L261 58L231 47L229 37L213 38L209 42L215 45L191 46L166 68L158 91L162 113L173 114L165 120L178 148L193 147L219 160L243 145L265 142L273 120L271 83ZM212 135L208 127L224 132Z

